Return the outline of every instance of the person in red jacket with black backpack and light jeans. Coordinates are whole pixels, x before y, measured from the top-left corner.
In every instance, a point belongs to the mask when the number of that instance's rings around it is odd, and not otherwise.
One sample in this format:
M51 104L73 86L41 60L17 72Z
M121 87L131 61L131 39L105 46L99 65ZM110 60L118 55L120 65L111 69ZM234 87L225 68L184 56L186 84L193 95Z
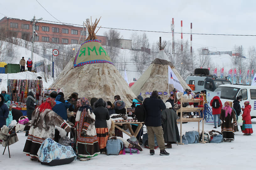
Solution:
M212 115L213 115L213 122L214 122L214 127L216 127L216 116L218 115L218 127L221 126L221 119L220 119L220 114L221 114L221 108L222 108L222 103L221 100L218 96L214 96L211 100L210 105L212 106Z

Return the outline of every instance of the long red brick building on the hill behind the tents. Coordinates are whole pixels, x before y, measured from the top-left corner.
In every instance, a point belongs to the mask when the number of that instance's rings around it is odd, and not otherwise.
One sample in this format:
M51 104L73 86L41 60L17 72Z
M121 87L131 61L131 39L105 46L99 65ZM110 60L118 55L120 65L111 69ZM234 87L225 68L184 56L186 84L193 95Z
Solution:
M18 37L30 41L33 32L33 21L3 17L0 20L0 31L6 32L6 37ZM66 24L36 22L35 42L50 42L57 44L81 44L86 39L86 29ZM81 38L80 38L81 36ZM102 45L106 45L106 37L97 35ZM80 38L80 42L79 41Z

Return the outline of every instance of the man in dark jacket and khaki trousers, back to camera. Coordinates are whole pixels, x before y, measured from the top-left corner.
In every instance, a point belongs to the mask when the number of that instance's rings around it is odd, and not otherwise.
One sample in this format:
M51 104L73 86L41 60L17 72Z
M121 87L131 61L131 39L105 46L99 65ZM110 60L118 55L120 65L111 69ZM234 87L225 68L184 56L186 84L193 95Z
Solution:
M154 135L157 138L157 144L160 148L160 155L169 155L165 150L164 138L163 138L163 128L161 122L161 111L166 109L165 104L162 100L158 99L158 92L155 90L152 92L150 98L145 98L143 102L144 108L146 110L146 121L148 134L148 147L150 149L150 155L154 155Z

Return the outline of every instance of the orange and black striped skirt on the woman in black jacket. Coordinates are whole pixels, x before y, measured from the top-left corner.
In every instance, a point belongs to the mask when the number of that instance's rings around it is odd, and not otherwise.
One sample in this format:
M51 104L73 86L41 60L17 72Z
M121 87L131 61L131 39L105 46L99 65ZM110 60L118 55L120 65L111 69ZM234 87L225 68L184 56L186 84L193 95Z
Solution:
M108 128L96 128L100 152L106 152L106 145L109 137Z

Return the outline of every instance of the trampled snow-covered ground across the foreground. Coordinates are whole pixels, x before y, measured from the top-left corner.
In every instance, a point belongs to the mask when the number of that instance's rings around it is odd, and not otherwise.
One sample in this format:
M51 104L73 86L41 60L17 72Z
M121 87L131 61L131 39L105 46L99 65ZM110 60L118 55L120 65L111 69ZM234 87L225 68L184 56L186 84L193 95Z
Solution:
M149 155L149 149L143 148L140 154L130 155L103 155L100 154L88 161L73 161L67 165L49 167L38 162L31 161L22 151L26 141L25 133L18 134L19 141L10 146L11 158L8 150L0 155L1 169L254 169L255 162L255 133L256 119L253 120L253 131L251 136L243 136L241 131L235 132L233 142L222 143L196 143L187 145L172 145L173 148L166 149L169 156L160 156L159 148L155 155ZM179 127L179 124L178 124ZM200 129L202 124L200 124ZM212 130L212 124L205 124L205 130ZM197 130L197 122L189 122L182 125L182 133ZM217 128L221 131L221 128ZM240 130L240 127L239 127ZM124 134L124 138L128 135ZM1 152L4 148L1 147ZM254 155L254 156L253 156Z

